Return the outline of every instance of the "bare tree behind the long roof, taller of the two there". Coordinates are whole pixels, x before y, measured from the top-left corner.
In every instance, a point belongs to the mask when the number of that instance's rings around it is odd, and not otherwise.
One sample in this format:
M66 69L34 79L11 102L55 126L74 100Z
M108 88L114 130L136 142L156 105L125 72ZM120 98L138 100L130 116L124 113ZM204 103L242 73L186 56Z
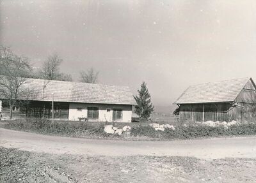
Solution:
M60 64L62 59L57 55L50 55L43 64L42 76L47 80L58 80L60 78Z

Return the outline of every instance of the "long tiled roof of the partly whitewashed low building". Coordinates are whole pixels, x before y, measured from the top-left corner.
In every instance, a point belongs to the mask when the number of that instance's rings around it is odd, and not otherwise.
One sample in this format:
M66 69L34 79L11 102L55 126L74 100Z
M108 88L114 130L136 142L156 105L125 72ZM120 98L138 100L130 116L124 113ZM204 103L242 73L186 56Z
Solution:
M52 101L53 93L54 101L59 102L136 105L129 87L33 78L28 78L22 87L38 92L35 101Z

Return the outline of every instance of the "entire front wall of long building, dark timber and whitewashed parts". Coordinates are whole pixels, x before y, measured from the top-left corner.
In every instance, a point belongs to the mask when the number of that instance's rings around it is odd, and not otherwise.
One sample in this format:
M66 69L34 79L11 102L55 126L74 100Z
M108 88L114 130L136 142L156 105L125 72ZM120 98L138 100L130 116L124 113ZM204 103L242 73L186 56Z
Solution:
M122 110L121 122L131 122L132 118L132 105L104 105L104 104L88 104L88 103L54 103L54 119L70 121L79 121L79 117L87 118L88 107L99 108L100 122L112 122L113 121L113 109ZM28 117L46 117L52 118L51 102L35 101L30 104L30 109L26 113L26 109L20 107L19 111L13 111L13 119L20 119L26 116ZM81 111L77 110L81 108ZM109 112L107 111L109 109ZM9 107L3 105L2 117L9 118Z

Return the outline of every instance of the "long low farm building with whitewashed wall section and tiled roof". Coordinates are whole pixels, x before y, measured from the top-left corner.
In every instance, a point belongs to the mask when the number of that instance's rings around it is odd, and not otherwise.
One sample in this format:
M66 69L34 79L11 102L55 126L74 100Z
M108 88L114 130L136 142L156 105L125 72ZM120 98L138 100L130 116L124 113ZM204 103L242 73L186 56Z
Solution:
M33 89L36 95L29 105L13 107L13 117L51 118L53 98L55 119L131 122L132 105L136 105L129 87L115 85L28 78L22 89ZM2 115L8 117L8 104L2 100Z

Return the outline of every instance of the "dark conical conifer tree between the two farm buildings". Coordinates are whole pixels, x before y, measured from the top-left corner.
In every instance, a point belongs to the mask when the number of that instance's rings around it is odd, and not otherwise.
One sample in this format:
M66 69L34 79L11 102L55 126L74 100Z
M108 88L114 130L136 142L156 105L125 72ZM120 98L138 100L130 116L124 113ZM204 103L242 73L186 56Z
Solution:
M148 120L151 113L154 111L154 106L151 102L151 96L147 89L147 84L143 82L140 85L140 90L138 90L138 96L134 96L134 99L137 102L135 106L135 113L140 116L142 120Z

